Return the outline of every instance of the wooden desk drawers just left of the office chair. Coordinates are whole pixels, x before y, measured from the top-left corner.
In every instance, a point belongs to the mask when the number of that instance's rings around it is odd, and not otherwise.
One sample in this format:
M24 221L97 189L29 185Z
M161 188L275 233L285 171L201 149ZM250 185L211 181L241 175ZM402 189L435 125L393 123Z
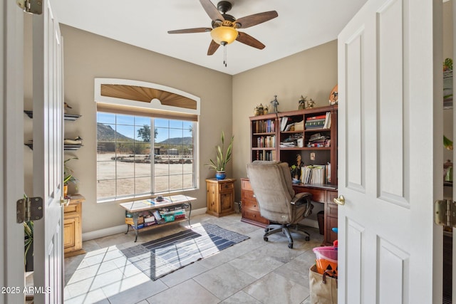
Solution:
M249 179L241 179L241 221L260 227L269 225L269 220L259 214L259 206Z

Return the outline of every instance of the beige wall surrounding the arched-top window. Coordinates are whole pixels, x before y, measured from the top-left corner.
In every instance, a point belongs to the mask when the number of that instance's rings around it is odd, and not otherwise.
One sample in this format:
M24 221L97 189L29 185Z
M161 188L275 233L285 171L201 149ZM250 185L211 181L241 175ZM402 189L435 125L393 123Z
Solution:
M71 113L82 115L75 122L65 122L65 136L83 138L84 147L66 153L66 158L72 154L79 158L71 161L71 167L81 181L78 192L87 199L83 204L83 233L121 225L125 215L117 203L96 203L96 107L93 100L93 79L97 77L158 83L201 98L199 189L187 194L197 197L194 209L204 208L204 179L214 177L214 172L209 171L204 164L214 157L214 146L219 141L220 132L224 130L227 136L231 136L232 77L70 26L61 26L61 31L65 50L65 101L73 107ZM231 168L227 171L231 174Z

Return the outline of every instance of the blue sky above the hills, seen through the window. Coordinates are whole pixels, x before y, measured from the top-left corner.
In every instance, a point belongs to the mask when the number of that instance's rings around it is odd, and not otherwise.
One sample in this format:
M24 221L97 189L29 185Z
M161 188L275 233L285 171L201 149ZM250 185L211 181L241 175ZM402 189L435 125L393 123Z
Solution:
M168 138L192 136L192 133L189 131L189 127L193 125L192 122L162 118L155 118L154 120L155 129L158 131L155 142L162 142ZM116 130L120 134L135 139L138 139L138 130L141 127L144 125L151 125L150 117L115 115L113 113L105 112L97 112L97 122L103 123L104 125L110 125L113 130Z

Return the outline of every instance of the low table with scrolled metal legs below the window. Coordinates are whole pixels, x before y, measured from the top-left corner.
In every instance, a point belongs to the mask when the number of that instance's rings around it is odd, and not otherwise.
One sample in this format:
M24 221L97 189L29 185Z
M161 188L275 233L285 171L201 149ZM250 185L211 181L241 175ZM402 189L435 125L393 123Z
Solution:
M152 200L152 199L150 199ZM195 197L191 196L186 196L186 195L172 195L172 196L165 196L165 201L162 201L160 203L155 203L152 204L148 199L143 199L141 201L129 201L128 203L123 203L120 204L120 206L125 209L125 212L128 212L130 214L133 214L133 225L127 224L127 232L125 234L128 234L128 231L130 231L130 226L135 229L135 241L138 241L138 231L145 231L149 229L154 229L158 226L162 227L167 224L176 224L180 223L181 221L188 221L188 224L190 226L190 214L192 214L192 201L195 201ZM159 210L161 208L165 207L170 207L170 206L175 206L178 204L189 204L190 206L190 212L188 214L188 217L185 216L183 219L177 219L175 221L168 221L168 222L159 222L157 224L153 224L152 226L145 226L144 228L138 229L138 219L140 216L140 213L142 211L150 211L150 210Z

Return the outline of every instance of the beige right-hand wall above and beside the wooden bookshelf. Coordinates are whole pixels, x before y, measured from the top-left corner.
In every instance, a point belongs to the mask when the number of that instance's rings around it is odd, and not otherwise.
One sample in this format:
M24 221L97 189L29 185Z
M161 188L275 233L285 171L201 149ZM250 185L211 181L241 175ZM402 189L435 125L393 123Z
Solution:
M329 94L336 84L337 41L234 75L233 174L237 179L237 199L241 193L240 179L247 177L245 166L250 162L249 116L253 115L255 106L269 105L277 95L279 112L297 110L303 95L316 100L316 107L321 107L328 105ZM312 218L319 209L322 206L316 206Z

